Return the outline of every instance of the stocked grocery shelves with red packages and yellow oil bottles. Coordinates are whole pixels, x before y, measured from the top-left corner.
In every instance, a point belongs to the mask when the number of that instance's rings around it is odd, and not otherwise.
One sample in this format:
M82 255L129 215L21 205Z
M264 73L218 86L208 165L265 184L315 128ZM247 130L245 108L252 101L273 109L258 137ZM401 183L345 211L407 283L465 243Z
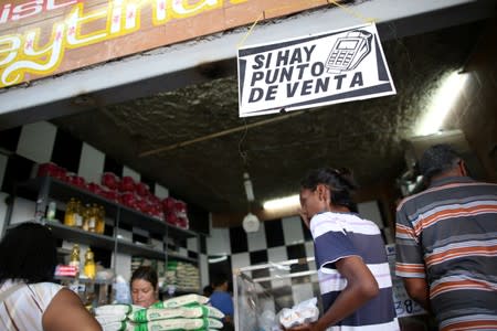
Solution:
M13 195L34 201L35 215L40 215L35 221L46 223L55 237L73 245L70 252L64 253L67 259L57 266L56 277L70 287L73 285L72 288L88 305L94 300L112 302L114 293L107 286L113 284L115 269L107 269L114 275L104 280L98 274L102 267L115 268L110 266L113 254L128 255L131 260L152 261L162 279L166 278L165 266L171 259L199 265L198 258L180 254L179 249L188 238L198 239L198 234L154 216L154 209L147 209L149 204L144 204L144 201L154 201L161 212L163 203L150 193L148 185L136 183L131 178L121 180L104 173L101 184L86 183L83 186L83 181L70 181L75 175L54 163L41 164L38 174L17 183ZM181 207L186 215L186 204ZM9 215L6 226L10 226ZM109 263L98 266L96 258L101 261L101 256L106 256ZM200 275L195 275L199 284ZM191 290L198 292L199 289L197 286Z

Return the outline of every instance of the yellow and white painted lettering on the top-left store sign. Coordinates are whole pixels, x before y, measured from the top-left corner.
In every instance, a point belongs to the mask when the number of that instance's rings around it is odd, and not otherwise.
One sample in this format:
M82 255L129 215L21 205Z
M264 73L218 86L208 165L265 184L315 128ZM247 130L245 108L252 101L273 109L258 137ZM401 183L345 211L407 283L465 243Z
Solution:
M241 3L248 0L231 0ZM78 49L86 45L109 41L133 33L140 29L140 17L145 6L151 6L154 26L165 24L170 20L186 19L202 12L220 9L223 0L114 0L104 8L85 12L84 1L68 0L56 4L54 0L46 3L43 0L29 1L11 8L3 7L0 23L32 17L47 10L73 4L63 22L52 26L50 41L40 45L40 29L24 34L0 35L0 87L30 81L29 74L49 75L57 70L66 49ZM95 29L94 25L105 25ZM84 33L83 29L89 30Z

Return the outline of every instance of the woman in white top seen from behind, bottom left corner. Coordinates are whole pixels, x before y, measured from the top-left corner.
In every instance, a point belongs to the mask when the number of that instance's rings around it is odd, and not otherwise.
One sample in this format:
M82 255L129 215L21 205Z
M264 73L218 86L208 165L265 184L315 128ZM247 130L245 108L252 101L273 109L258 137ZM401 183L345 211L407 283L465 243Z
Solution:
M97 331L80 297L53 282L56 242L38 223L10 228L0 243L0 330Z

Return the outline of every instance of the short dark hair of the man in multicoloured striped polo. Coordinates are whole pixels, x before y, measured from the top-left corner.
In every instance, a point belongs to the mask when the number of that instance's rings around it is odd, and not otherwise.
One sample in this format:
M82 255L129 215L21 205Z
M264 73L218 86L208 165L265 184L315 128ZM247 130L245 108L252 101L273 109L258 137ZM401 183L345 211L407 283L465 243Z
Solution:
M461 161L461 156L450 145L440 143L426 149L420 160L420 171L425 178L453 169Z

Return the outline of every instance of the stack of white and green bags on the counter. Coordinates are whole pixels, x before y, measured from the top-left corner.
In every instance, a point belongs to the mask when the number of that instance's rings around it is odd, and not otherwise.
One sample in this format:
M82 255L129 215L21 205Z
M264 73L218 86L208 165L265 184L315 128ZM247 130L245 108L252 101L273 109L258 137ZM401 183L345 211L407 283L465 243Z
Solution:
M224 314L209 306L209 298L186 295L154 303L106 305L95 308L95 318L104 331L166 331L221 329Z

